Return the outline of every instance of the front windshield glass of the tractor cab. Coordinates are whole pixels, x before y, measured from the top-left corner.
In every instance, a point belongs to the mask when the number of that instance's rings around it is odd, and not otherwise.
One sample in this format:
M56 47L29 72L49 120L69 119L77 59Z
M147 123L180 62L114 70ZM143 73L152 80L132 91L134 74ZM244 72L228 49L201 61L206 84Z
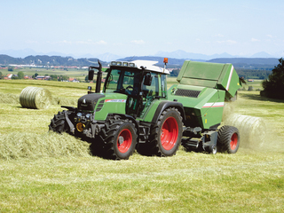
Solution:
M105 92L138 96L141 72L131 69L111 69L106 77Z

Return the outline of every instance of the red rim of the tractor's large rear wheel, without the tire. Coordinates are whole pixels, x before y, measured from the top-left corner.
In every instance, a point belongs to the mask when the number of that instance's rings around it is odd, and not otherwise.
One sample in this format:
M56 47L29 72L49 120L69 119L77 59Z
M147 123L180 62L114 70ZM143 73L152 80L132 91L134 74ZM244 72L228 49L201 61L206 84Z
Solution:
M178 126L174 117L169 117L162 124L161 143L166 150L172 149L177 143Z

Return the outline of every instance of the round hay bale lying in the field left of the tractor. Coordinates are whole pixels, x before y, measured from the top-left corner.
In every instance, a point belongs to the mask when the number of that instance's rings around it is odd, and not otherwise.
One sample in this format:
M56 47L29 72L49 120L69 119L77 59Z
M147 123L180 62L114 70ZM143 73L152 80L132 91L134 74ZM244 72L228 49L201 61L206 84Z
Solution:
M20 105L34 109L48 108L51 105L51 92L39 87L26 87L20 92Z

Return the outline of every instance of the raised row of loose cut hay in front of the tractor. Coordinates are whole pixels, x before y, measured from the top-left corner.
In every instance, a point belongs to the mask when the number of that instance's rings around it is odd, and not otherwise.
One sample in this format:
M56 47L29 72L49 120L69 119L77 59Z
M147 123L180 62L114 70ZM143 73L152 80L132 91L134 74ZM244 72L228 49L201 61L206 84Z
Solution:
M67 133L28 132L0 134L0 159L37 159L40 157L90 157L89 144Z

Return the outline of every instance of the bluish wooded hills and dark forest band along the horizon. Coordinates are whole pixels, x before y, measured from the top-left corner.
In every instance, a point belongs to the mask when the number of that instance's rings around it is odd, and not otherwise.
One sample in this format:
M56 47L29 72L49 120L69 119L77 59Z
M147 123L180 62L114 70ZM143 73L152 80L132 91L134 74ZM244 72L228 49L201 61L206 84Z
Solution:
M163 57L152 57L152 56L142 56L142 57L127 57L124 61L145 59L145 60L154 60L158 61L157 66L163 67ZM204 61L192 59L193 61ZM74 59L72 57L61 57L61 56L28 56L24 59L13 58L8 55L0 54L0 65L9 66L9 65L36 65L36 66L77 66L77 67L89 67L96 64L98 59ZM179 69L182 67L185 59L171 59L169 58L168 68L173 68L171 75L178 75ZM206 62L211 63L231 63L235 67L237 73L244 77L245 79L254 78L254 79L266 79L268 75L271 74L272 69L277 66L278 59L274 58L228 58L228 59L210 59ZM102 66L106 67L108 62L101 61Z

